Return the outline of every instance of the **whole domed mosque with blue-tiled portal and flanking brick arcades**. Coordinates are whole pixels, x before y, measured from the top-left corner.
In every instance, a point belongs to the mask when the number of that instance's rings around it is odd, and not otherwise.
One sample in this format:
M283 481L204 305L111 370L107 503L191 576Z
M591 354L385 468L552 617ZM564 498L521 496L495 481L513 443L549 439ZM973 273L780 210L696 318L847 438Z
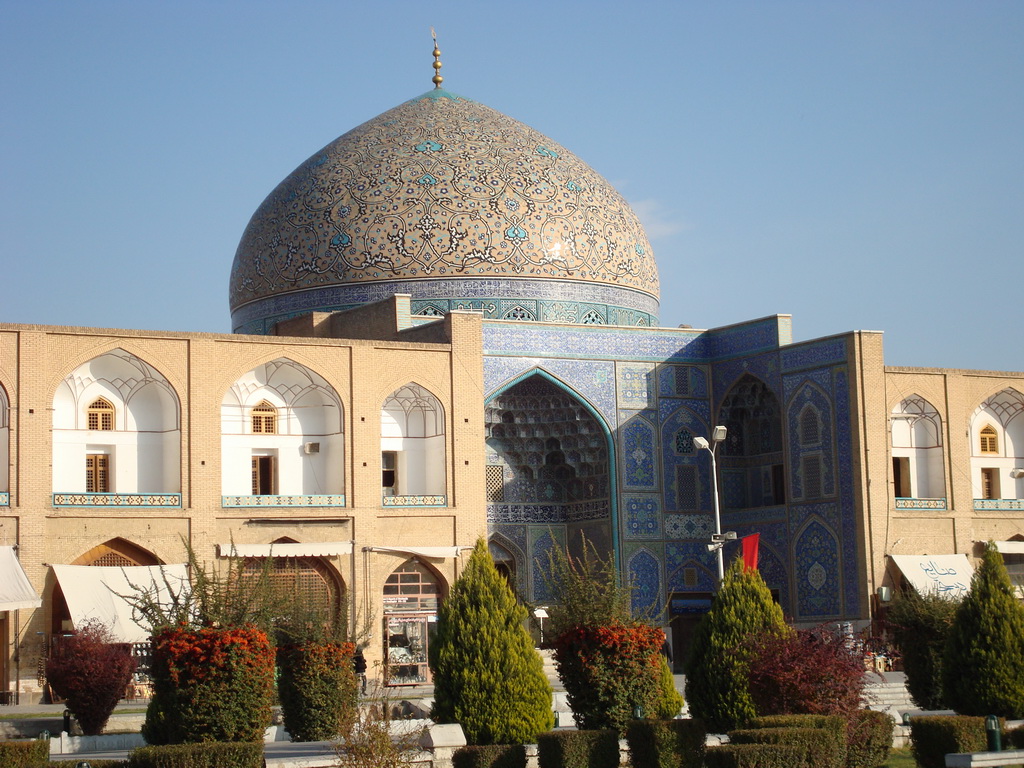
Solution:
M881 333L795 341L788 315L659 327L623 197L437 56L254 213L232 334L0 324L0 700L44 696L90 618L144 648L114 593L186 543L350 611L392 685L429 682L480 536L532 607L586 537L677 658L719 510L800 625L963 591L989 540L1024 575L1024 373L888 367Z

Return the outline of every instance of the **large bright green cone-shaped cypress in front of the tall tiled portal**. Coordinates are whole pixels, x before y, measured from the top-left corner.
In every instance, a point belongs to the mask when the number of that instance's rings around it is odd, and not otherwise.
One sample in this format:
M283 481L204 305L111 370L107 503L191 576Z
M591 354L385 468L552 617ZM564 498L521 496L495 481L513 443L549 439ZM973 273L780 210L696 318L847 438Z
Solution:
M525 621L526 608L478 540L437 611L430 646L431 717L461 724L470 744L531 743L554 725L551 686Z

